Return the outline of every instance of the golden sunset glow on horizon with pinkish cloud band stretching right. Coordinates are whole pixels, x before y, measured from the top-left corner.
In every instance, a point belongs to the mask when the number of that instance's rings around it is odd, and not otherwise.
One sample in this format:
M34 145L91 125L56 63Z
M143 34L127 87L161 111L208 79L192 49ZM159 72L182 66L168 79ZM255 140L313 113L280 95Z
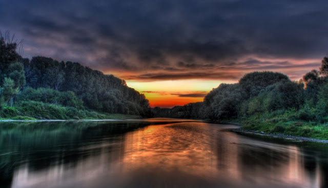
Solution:
M254 60L255 64L242 64L242 62L250 60ZM256 62L256 60L259 62ZM213 88L218 87L221 83L237 83L243 75L253 71L281 72L289 76L292 81L298 81L306 72L320 66L319 59L268 59L260 57L252 59L251 57L245 57L240 61L239 64L237 63L233 67L223 67L215 70L217 72L214 75L213 71L209 69L208 74L204 74L204 78L181 80L160 80L158 78L159 80L147 80L133 76L133 72L120 71L112 73L118 78L126 80L129 87L143 93L149 100L151 107L173 107L176 105L201 102L204 97L204 95L201 96L201 93L206 94ZM170 75L170 72L167 73ZM182 72L181 74L183 73L186 72ZM222 78L216 79L216 74L218 76L221 75ZM192 72L190 76L192 76ZM198 95L195 95L197 93Z

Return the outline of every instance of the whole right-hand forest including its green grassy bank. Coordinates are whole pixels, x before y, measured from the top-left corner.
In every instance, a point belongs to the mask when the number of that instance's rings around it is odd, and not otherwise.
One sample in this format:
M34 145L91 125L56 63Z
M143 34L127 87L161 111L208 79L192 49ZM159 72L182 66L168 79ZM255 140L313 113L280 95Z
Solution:
M256 71L213 88L203 102L152 110L155 117L233 122L247 130L328 139L328 57L299 81Z

